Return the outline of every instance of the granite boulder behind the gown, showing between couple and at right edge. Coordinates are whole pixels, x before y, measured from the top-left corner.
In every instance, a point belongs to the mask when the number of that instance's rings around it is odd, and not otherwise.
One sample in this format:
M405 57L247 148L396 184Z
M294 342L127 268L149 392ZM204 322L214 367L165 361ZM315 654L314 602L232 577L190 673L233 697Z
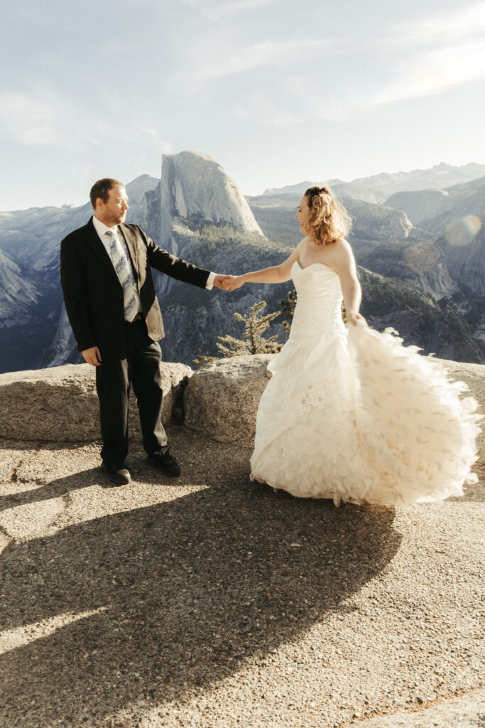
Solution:
M185 425L221 442L252 445L256 412L270 373L272 354L220 359L193 373L183 395ZM441 359L453 380L462 380L485 407L485 366ZM484 435L482 435L483 443Z

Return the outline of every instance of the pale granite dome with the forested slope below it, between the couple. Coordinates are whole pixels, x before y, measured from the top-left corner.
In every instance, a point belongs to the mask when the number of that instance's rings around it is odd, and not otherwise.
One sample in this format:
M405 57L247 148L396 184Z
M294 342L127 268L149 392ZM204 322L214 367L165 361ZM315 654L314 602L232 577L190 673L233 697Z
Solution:
M236 182L200 152L164 155L161 183L147 195L142 226L170 253L215 272L238 274L275 265L287 256L281 245L262 234ZM245 312L262 298L268 309L279 309L290 288L260 285L232 294L216 288L209 293L154 275L167 331L161 342L164 358L185 363L199 354L217 354L217 336L240 336L234 312ZM281 323L276 329L282 333Z

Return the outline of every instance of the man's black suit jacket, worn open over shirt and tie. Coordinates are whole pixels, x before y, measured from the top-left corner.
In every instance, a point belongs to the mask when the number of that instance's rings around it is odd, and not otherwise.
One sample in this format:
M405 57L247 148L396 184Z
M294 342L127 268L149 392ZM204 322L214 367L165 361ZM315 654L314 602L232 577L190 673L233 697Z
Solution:
M151 267L199 288L205 288L209 271L162 250L137 225L120 224L118 229L137 277L148 335L159 341L164 324ZM61 242L60 281L79 351L99 347L101 357L118 357L124 343L123 288L92 218Z

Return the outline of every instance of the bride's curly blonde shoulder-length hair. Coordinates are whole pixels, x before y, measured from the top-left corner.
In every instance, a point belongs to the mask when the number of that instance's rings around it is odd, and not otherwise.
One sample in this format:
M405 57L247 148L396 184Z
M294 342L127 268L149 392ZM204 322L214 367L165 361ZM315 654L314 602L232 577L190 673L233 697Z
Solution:
M309 187L305 197L310 207L305 227L317 245L329 245L350 232L350 215L328 187Z

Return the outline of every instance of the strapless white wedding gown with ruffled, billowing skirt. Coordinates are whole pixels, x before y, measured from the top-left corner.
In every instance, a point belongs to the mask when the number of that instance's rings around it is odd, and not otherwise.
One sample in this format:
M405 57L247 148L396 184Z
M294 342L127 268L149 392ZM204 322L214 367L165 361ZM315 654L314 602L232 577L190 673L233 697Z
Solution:
M345 328L340 278L292 266L289 340L257 411L251 478L302 498L392 505L463 495L480 431L473 397L392 329Z

